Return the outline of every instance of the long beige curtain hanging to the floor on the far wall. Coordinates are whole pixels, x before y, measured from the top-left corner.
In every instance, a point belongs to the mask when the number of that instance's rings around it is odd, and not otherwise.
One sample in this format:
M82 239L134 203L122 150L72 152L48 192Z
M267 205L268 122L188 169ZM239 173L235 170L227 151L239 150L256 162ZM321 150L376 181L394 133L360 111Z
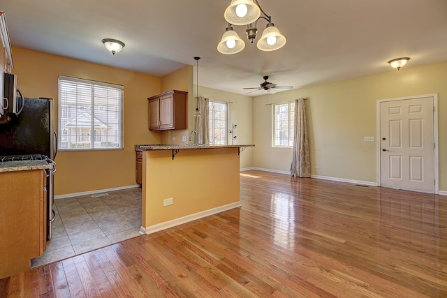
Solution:
M305 98L295 99L295 126L291 173L294 177L310 177L309 140Z

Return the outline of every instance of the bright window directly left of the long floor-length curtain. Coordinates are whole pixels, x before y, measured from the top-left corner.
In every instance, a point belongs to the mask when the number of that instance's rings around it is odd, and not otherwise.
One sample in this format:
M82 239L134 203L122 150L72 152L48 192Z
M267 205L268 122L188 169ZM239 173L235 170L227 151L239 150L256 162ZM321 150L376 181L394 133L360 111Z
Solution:
M293 147L295 103L273 105L273 147Z

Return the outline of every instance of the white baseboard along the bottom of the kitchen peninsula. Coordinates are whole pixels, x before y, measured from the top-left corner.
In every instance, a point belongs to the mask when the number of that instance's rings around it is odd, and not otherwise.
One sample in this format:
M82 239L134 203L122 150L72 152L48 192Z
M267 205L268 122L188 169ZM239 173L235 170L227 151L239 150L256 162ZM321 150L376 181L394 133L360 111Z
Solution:
M234 202L231 204L226 204L221 207L216 207L212 209L208 209L205 211L201 211L195 214L190 214L187 216L183 216L180 218L175 218L171 221L165 221L164 223L157 223L156 225L150 225L149 227L141 227L140 234L152 234L154 232L159 232L164 229L173 228L175 225L182 225L183 223L189 223L190 221L196 221L196 219L203 218L205 216L210 216L213 214L217 214L219 212L223 212L226 210L230 210L233 208L241 207L241 202Z

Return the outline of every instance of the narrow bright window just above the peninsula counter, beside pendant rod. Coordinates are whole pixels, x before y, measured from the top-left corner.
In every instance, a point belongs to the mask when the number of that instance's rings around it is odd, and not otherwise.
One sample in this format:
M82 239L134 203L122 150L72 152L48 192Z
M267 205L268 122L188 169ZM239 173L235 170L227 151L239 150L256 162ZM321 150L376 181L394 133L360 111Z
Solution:
M209 100L208 127L210 144L227 144L228 103Z

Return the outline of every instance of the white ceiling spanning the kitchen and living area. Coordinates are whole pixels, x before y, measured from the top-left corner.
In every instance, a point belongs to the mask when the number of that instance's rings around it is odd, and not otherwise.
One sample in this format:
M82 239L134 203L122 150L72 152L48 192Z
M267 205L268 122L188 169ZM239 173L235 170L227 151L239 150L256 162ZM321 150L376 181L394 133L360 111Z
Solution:
M447 61L447 0L258 1L287 38L277 51L258 50L235 27L245 49L217 52L230 0L0 0L0 10L13 46L155 76L198 56L201 86L237 94L263 75L300 88L397 71L387 63L397 57L411 57L405 68ZM266 24L258 21L258 37ZM126 46L112 56L103 38Z

